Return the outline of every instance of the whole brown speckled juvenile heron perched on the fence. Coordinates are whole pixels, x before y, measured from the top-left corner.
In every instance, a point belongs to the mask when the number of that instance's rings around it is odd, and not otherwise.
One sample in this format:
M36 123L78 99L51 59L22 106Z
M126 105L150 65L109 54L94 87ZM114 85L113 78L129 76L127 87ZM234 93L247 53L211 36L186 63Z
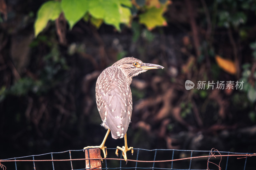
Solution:
M87 146L87 148L100 148L106 158L105 142L111 131L112 138L118 139L124 137L124 146L117 146L123 151L123 157L127 160L126 152L133 147L128 148L126 131L132 116L132 92L130 84L132 77L137 76L150 69L163 69L163 66L156 64L143 63L133 57L123 58L112 66L102 71L96 82L96 102L102 120L102 126L108 129L100 146Z

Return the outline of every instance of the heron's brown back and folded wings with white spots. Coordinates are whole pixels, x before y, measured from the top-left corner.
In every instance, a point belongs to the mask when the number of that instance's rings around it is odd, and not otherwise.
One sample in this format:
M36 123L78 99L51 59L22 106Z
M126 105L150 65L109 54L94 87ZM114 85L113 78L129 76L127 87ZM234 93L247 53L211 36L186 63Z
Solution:
M109 74L110 71L111 74ZM99 76L97 84L96 101L100 117L111 130L114 139L122 138L128 129L132 116L130 85L125 81L124 74L117 67L105 69Z

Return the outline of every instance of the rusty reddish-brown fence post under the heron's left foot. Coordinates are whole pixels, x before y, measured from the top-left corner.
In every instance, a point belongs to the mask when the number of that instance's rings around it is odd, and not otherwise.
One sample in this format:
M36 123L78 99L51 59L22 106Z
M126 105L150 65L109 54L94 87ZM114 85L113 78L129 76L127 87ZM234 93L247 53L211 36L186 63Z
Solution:
M88 158L100 158L100 148L89 148L85 150L85 159ZM101 160L100 159L89 159L85 160L86 168L101 169ZM97 169L98 170L98 169Z

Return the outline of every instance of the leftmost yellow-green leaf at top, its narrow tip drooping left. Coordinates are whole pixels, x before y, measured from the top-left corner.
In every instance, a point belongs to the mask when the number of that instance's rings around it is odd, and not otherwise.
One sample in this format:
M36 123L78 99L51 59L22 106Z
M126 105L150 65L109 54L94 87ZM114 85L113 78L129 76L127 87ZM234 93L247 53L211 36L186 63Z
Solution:
M45 2L37 12L34 24L35 36L44 30L49 20L55 20L60 16L61 7L58 1Z

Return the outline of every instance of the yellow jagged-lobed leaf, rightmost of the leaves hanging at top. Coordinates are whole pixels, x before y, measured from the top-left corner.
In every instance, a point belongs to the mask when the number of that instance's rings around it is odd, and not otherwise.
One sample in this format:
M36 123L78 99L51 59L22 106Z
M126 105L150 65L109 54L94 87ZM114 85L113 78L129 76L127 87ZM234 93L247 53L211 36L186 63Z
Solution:
M139 22L147 26L148 30L154 29L156 26L166 26L167 23L163 17L164 8L152 7L145 13L140 14Z

